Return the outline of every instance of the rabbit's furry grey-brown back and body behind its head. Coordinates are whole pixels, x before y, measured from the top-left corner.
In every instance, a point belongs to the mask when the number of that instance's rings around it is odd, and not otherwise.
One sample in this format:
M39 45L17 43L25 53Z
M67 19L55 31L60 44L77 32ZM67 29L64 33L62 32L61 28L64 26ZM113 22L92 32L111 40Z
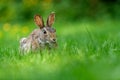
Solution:
M44 42L41 40L43 37L40 32L40 29L35 29L27 38L22 38L20 40L20 49L22 52L34 51L44 46Z

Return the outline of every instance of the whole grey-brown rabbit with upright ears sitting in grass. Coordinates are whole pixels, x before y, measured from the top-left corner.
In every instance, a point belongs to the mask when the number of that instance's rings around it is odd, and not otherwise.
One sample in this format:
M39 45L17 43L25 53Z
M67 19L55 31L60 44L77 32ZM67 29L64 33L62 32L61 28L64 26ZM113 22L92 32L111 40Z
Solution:
M46 47L49 49L57 47L56 30L52 27L54 21L54 12L48 16L46 26L42 16L35 15L34 22L39 28L35 29L28 37L20 39L20 52L28 53Z

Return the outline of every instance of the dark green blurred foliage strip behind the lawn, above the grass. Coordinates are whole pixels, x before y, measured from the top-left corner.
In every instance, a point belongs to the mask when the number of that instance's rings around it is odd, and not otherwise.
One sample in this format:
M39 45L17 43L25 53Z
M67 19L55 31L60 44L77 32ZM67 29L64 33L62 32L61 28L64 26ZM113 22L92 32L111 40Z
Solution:
M0 0L0 22L33 20L54 11L58 20L119 19L120 0Z

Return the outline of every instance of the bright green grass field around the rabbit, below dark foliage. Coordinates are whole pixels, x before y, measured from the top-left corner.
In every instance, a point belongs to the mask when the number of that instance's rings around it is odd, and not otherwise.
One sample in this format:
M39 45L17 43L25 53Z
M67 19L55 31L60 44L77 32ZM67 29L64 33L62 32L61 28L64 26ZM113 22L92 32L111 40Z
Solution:
M56 22L58 48L24 56L19 39L36 28L34 23L0 26L1 80L120 79L119 21Z

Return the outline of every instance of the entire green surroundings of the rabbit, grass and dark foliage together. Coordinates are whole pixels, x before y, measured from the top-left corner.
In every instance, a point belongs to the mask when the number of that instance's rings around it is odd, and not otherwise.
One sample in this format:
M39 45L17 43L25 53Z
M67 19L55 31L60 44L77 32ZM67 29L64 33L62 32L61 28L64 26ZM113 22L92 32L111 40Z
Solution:
M120 80L120 0L0 0L0 79ZM21 56L19 41L56 13L58 48Z

